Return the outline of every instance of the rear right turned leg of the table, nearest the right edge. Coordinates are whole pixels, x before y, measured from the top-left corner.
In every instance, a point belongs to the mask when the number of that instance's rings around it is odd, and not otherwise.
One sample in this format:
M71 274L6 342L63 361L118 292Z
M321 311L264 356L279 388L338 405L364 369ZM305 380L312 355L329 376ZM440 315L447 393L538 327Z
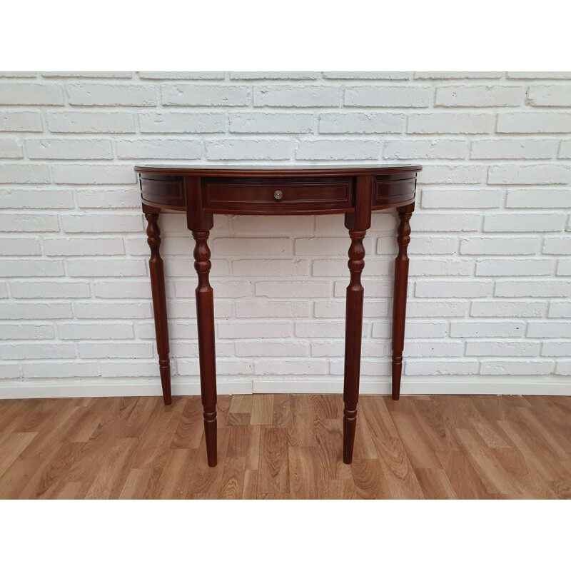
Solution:
M398 255L395 259L395 293L393 298L393 400L400 397L400 375L403 373L405 345L406 291L408 288L408 256L410 224L415 205L397 208L400 223L397 230Z

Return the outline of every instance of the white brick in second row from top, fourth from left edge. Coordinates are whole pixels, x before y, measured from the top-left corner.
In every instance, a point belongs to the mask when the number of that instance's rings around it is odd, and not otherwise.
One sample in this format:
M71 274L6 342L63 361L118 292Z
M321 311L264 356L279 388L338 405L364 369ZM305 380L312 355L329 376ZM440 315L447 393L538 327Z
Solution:
M335 86L256 86L254 107L337 107L339 88Z

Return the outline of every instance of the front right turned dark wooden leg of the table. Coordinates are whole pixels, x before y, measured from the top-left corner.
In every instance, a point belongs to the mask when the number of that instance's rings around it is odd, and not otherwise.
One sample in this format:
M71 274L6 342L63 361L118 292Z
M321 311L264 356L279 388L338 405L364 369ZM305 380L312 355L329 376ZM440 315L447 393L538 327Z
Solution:
M353 443L357 425L357 401L359 400L359 372L361 360L361 333L363 330L363 285L361 272L365 266L363 248L364 230L350 230L349 248L350 283L347 288L345 314L345 384L343 388L343 462L353 460Z

